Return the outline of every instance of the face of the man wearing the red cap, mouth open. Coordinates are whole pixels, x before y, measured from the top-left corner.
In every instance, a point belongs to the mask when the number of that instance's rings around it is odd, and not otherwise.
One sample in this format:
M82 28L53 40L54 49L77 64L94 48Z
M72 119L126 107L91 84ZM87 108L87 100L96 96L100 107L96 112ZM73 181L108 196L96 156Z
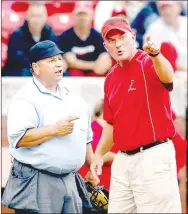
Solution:
M130 60L135 50L135 34L130 31L111 30L104 39L104 46L116 61Z

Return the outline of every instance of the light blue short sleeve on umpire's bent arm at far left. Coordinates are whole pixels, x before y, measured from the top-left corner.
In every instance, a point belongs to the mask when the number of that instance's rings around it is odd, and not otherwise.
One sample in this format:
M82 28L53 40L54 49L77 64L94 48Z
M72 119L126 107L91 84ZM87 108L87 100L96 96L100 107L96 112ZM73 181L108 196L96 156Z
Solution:
M8 109L7 133L9 145L16 148L19 140L28 129L37 128L39 124L35 107L24 99L13 101Z

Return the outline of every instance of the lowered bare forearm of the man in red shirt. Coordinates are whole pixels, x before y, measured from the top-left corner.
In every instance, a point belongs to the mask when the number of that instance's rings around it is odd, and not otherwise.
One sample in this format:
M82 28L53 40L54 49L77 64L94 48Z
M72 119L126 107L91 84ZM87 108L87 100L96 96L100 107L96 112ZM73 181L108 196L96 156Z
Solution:
M113 145L113 126L106 122L95 155L104 156Z

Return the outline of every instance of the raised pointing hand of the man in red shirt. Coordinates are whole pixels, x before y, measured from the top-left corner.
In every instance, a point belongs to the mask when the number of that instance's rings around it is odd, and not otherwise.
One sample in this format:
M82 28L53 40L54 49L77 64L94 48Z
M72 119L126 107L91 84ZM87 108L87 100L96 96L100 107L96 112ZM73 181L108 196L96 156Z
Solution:
M147 36L146 42L143 45L143 50L148 54L156 55L161 50L161 44L154 42L150 36Z

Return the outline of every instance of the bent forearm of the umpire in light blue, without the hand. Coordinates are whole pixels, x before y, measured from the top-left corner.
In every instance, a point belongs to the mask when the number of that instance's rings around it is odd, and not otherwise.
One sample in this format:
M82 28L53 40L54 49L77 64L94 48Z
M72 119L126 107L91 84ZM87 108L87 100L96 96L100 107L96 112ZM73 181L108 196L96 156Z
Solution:
M55 136L53 126L29 129L18 142L17 147L33 147Z

